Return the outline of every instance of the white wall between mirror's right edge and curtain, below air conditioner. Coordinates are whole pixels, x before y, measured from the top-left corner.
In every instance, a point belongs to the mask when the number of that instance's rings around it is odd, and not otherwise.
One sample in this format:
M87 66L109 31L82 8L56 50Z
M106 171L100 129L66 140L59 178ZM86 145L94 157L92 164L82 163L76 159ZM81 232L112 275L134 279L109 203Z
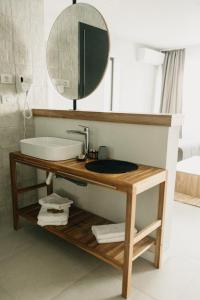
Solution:
M138 47L133 41L111 34L111 56L119 72L115 88L120 112L152 112L158 67L137 61Z

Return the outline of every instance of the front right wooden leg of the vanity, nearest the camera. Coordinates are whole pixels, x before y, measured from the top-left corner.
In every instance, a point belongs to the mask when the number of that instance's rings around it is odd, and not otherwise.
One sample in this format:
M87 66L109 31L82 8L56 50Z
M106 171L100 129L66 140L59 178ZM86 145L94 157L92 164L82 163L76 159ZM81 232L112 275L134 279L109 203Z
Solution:
M124 243L124 266L122 280L122 297L127 298L131 290L133 241L135 228L136 193L131 190L127 193L126 228Z

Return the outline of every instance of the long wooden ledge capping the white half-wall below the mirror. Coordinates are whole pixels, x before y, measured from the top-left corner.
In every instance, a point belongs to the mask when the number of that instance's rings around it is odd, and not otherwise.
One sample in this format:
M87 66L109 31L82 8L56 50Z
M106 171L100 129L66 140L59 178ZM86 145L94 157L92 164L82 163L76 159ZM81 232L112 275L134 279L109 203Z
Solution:
M157 125L166 127L181 126L183 122L183 116L180 114L130 114L53 109L33 109L33 116L125 124Z

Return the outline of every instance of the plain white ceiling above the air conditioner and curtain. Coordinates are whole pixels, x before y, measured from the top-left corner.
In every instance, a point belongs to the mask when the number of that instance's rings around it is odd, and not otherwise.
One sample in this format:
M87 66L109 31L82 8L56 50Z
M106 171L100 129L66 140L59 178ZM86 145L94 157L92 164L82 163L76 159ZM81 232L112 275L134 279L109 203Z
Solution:
M111 32L158 49L200 44L200 0L85 0Z

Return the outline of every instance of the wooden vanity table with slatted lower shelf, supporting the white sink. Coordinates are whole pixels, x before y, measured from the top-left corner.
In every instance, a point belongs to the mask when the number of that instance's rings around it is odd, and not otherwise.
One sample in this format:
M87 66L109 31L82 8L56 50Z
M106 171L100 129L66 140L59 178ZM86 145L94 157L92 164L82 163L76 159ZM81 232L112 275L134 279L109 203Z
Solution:
M20 193L47 187L47 194L53 192L53 185L40 183L29 187L17 186L16 164L25 164L37 169L53 172L63 178L86 181L106 188L126 193L126 229L125 242L98 244L92 234L91 226L112 223L90 212L70 208L69 222L65 226L45 226L44 228L58 237L78 246L95 257L111 264L123 272L122 296L127 298L131 289L132 262L146 250L155 245L156 268L160 267L162 253L162 235L165 210L166 171L163 169L139 165L138 170L123 174L100 174L88 171L85 162L76 160L46 161L20 152L10 153L10 170L13 201L14 228L19 228L19 217L23 217L33 224L37 224L39 204L18 208ZM157 220L142 229L134 236L136 198L137 195L159 185L159 202ZM156 230L155 239L149 235Z

